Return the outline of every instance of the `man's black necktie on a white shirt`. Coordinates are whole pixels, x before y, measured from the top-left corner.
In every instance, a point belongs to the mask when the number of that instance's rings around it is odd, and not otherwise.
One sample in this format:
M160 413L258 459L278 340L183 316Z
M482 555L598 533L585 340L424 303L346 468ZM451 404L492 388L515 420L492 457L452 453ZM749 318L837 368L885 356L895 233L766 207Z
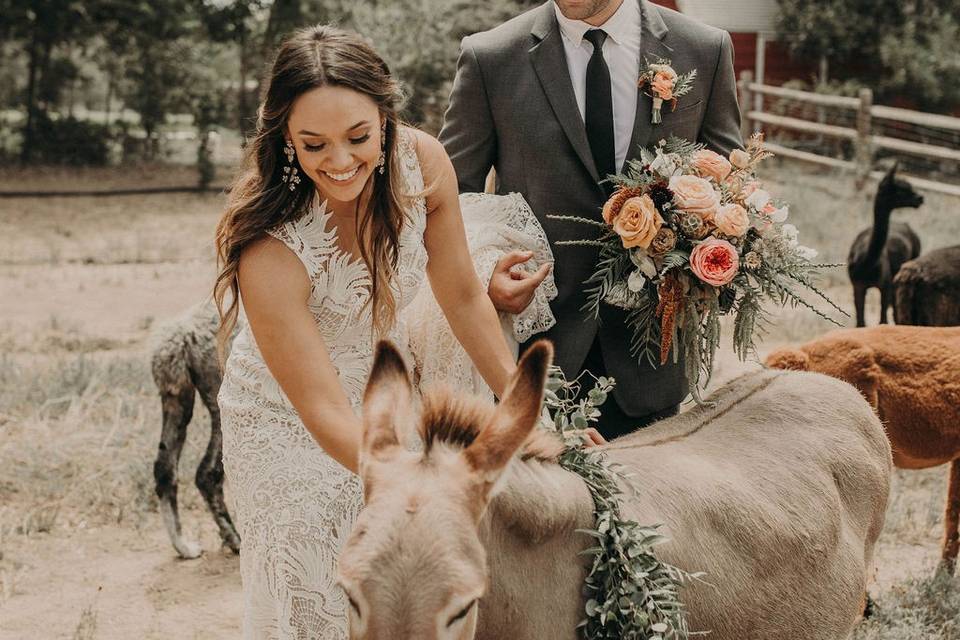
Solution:
M603 43L607 32L591 29L583 36L593 43L593 55L587 63L587 99L584 124L590 151L597 165L601 180L617 172L616 148L613 142L613 94L610 89L610 69L603 59ZM610 193L609 183L603 185L604 192Z

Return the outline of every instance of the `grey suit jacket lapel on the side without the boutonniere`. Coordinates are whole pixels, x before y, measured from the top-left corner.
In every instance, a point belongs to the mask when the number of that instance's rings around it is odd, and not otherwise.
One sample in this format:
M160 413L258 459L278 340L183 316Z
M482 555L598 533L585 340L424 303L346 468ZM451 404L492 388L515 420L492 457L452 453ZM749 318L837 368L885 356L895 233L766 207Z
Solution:
M563 49L563 37L560 35L553 2L546 2L539 9L530 33L537 41L530 48L530 61L547 95L547 100L550 101L550 107L580 161L593 179L599 182L600 177L597 175L597 167L590 152L590 141L587 139L587 131L583 125L580 108L577 106L577 97L570 82L567 55Z

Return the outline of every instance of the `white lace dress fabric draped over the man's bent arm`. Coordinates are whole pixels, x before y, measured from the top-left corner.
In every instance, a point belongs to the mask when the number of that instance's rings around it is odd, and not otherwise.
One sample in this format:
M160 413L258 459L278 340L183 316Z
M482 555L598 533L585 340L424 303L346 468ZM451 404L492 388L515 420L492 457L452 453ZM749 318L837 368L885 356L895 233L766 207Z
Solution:
M519 193L505 196L465 193L460 196L460 208L470 254L481 281L489 282L494 266L511 251L532 251L533 257L526 263L531 271L553 262L547 234ZM551 271L534 292L529 306L512 316L513 337L518 343L556 324L550 310L550 301L555 297L557 285Z

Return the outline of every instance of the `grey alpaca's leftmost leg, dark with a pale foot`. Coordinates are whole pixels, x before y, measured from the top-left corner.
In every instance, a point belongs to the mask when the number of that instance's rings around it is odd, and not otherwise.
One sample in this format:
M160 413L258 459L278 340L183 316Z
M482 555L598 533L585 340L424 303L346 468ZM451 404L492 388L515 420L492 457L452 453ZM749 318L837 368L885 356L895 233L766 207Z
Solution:
M177 511L177 465L183 441L187 437L187 425L193 415L193 386L180 388L176 393L161 392L163 404L163 432L160 447L153 464L157 497L160 498L160 515L167 527L173 547L183 558L197 558L201 548L195 542L183 539L180 514Z

